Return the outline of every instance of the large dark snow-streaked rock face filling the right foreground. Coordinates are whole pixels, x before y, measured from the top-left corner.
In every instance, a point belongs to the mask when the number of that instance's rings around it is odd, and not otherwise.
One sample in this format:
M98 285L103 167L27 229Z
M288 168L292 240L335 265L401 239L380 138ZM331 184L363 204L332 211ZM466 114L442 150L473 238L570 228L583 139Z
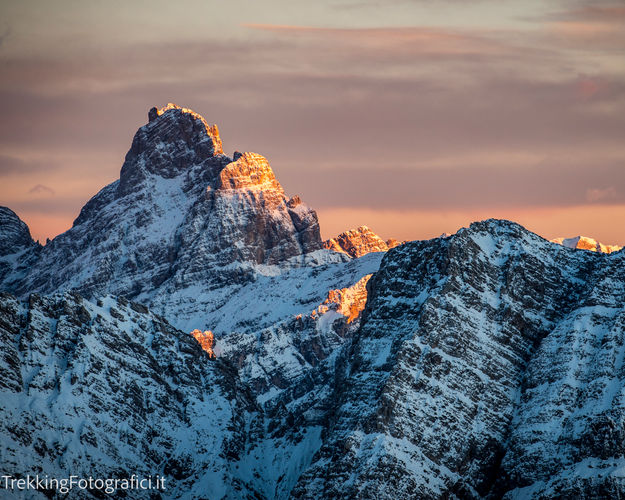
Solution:
M503 221L388 252L293 495L618 498L623 269Z

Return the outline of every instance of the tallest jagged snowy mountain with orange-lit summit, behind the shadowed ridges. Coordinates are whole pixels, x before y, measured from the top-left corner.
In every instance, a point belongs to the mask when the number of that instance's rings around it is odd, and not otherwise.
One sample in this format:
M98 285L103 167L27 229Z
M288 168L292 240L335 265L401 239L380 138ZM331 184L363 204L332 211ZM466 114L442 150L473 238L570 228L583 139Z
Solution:
M29 247L27 272L7 275L3 288L22 298L68 290L123 295L184 330L219 333L212 313L246 285L264 288L302 266L349 260L321 248L317 214L285 195L265 158L229 158L221 144L217 126L197 113L153 108L119 180L89 200L70 230L43 248ZM301 309L292 294L280 301L287 315ZM270 322L286 317L275 316Z

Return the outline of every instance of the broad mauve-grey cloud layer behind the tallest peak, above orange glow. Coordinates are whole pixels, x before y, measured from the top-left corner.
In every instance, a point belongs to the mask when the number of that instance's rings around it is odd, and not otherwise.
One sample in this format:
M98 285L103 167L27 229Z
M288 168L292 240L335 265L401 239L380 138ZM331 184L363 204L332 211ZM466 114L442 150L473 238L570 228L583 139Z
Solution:
M608 22L599 16L586 21ZM217 122L226 151L266 155L315 208L618 202L620 192L592 190L625 182L625 77L608 45L577 50L571 30L583 21L554 14L528 31L256 24L239 38L2 51L0 174L12 187L0 197L41 183L60 203L58 178L85 179L82 198L59 205L73 218L117 177L147 110L173 101ZM52 209L35 201L24 209Z

